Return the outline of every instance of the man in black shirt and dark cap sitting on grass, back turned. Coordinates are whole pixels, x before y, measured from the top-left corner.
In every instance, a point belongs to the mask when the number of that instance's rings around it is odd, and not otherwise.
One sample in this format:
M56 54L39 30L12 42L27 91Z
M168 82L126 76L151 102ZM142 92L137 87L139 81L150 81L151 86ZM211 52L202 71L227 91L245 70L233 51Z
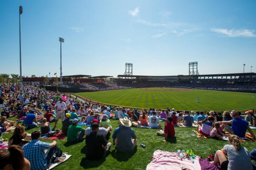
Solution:
M107 115L104 115L108 118ZM109 120L109 119L108 119ZM90 160L102 159L106 156L111 148L111 143L107 143L107 139L99 131L99 125L97 122L91 125L92 132L85 137L85 143L87 146L86 158Z

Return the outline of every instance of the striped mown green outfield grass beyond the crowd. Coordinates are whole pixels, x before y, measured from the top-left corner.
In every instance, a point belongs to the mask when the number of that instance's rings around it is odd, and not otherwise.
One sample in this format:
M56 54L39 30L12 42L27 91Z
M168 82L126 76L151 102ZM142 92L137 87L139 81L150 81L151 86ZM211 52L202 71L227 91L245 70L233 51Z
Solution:
M253 94L179 88L133 88L77 93L85 98L138 108L175 108L179 110L248 110L256 108ZM199 102L196 102L196 98Z

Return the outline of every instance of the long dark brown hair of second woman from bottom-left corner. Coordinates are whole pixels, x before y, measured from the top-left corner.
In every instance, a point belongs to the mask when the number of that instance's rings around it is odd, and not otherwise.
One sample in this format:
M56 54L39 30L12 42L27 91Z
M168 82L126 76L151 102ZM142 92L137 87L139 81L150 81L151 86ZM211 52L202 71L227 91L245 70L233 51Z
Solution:
M13 170L23 170L24 155L23 150L18 145L12 145L9 150L9 164L12 165Z

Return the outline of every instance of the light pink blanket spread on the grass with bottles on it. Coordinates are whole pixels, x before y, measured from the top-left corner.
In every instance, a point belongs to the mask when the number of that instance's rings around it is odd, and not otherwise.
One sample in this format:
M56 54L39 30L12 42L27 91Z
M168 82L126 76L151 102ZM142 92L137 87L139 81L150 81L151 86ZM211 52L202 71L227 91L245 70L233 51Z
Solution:
M181 170L180 164L183 164L187 170L201 170L199 157L196 157L193 164L189 159L180 160L176 153L156 150L153 154L153 160L147 165L146 170Z

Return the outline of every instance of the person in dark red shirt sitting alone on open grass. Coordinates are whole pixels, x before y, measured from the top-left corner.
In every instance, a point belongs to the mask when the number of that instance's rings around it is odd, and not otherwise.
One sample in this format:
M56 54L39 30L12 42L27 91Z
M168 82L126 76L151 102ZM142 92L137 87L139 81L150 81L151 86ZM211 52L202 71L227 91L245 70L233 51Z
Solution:
M172 123L172 117L167 117L164 125L164 131L158 131L157 135L164 136L163 142L166 142L168 139L175 136L174 125Z

